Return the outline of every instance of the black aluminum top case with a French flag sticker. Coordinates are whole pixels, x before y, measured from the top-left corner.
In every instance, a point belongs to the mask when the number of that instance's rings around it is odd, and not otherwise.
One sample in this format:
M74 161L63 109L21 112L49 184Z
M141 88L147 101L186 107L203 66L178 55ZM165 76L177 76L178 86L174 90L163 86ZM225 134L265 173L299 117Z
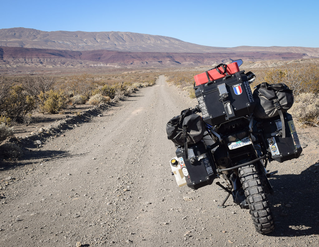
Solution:
M203 119L212 126L252 113L256 102L245 71L195 86Z

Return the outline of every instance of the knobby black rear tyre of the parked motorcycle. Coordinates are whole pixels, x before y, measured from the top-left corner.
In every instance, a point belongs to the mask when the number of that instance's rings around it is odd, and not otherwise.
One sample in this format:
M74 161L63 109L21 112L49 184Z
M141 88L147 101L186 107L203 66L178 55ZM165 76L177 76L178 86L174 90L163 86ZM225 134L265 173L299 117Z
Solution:
M267 234L273 231L274 221L272 219L268 199L266 197L262 180L260 179L254 165L241 167L238 170L242 187L247 197L251 218L254 221L256 231Z

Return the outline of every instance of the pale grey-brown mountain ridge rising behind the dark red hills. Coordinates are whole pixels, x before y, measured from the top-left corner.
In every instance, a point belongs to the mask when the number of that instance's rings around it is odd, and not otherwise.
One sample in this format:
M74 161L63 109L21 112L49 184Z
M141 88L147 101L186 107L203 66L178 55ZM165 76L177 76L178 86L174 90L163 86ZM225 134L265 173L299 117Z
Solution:
M0 46L72 51L113 50L124 52L293 52L319 57L319 48L299 46L212 47L159 35L133 32L41 31L32 28L0 29Z

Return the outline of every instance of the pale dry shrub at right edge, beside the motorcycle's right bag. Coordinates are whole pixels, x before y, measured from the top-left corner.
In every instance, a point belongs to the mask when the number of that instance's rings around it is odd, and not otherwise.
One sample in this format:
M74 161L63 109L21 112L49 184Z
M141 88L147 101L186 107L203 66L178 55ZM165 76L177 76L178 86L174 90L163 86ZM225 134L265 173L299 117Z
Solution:
M319 123L319 96L308 92L300 93L289 111L300 123Z

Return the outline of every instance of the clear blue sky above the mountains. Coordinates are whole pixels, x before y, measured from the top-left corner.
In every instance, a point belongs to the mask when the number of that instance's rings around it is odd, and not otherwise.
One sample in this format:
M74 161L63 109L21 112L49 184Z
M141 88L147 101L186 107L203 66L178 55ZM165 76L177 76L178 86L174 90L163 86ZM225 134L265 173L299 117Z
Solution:
M234 47L319 47L318 0L2 0L0 28L123 31Z

